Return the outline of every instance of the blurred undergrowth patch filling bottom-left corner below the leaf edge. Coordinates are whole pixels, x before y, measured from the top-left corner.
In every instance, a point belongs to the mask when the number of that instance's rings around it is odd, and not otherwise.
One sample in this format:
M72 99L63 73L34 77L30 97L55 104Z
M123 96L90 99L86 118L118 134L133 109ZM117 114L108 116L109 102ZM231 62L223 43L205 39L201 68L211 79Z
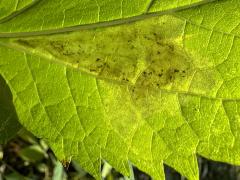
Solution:
M75 164L72 161L66 171L48 145L24 129L0 145L0 179L90 179L81 168L75 168Z

